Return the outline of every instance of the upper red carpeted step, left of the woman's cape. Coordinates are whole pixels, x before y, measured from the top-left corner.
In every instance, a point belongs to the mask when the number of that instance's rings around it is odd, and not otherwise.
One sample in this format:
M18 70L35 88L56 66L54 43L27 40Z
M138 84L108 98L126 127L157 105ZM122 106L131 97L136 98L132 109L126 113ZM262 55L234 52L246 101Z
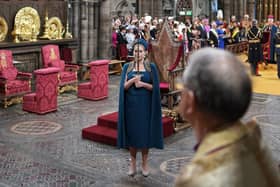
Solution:
M112 129L118 128L118 112L105 114L97 118L97 125L109 127Z

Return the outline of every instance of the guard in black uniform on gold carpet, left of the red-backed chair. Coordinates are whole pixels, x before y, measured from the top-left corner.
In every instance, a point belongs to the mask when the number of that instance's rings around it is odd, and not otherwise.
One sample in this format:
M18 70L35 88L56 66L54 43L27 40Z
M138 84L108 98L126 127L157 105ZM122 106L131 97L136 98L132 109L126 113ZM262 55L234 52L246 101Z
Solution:
M251 73L255 76L260 76L258 72L258 63L262 61L262 45L261 38L262 32L261 29L257 26L258 21L252 21L252 27L247 33L247 38L249 42L249 51L248 51L248 61L251 65Z

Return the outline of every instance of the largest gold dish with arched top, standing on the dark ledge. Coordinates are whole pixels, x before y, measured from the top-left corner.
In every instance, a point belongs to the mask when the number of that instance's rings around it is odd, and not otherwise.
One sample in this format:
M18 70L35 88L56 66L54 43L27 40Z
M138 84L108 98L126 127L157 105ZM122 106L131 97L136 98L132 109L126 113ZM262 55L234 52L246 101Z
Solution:
M37 41L40 33L40 17L32 7L20 9L15 17L15 25L12 35L14 42L19 41Z

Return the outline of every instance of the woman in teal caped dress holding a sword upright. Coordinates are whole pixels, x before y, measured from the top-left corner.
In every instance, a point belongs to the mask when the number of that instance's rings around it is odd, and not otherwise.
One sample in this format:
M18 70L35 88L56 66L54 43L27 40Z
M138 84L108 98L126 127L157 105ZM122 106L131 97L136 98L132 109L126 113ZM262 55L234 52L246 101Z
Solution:
M142 152L142 174L149 175L149 148L163 149L159 78L156 65L145 61L147 43L138 40L134 62L124 65L119 94L118 147L128 148L128 175L136 174L137 150Z

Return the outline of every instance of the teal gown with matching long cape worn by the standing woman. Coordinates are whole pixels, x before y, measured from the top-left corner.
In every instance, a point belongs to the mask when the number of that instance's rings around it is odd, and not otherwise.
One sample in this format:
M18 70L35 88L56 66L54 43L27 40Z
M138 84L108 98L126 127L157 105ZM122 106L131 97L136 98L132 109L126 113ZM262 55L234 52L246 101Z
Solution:
M160 91L158 73L154 64L149 64L151 71L139 72L141 81L153 84L153 90L136 88L132 85L124 90L124 79L133 78L137 72L127 71L123 67L120 83L118 147L128 148L163 148Z

